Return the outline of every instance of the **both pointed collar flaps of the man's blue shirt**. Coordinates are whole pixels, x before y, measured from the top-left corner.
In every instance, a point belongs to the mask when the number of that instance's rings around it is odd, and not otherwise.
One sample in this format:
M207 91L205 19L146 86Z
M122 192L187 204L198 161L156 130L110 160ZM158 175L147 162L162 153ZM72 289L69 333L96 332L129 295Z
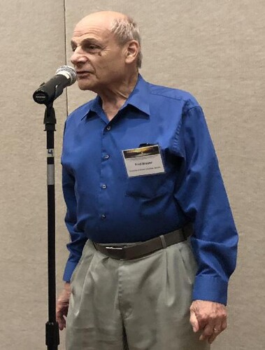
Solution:
M121 110L128 105L134 106L139 111L142 111L150 116L149 87L148 83L143 79L141 74L139 74L136 86L129 95L127 101L122 106ZM96 98L89 104L89 109L85 112L83 118L89 118L93 115L93 112L99 114L99 111L101 111L101 98L99 95L97 95Z

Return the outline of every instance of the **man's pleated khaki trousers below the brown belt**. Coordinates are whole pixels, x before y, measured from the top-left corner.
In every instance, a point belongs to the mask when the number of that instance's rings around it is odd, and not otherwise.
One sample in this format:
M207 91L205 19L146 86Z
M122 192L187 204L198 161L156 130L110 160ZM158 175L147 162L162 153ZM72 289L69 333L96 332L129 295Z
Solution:
M195 274L189 241L134 260L87 241L71 280L66 350L210 349L189 325Z

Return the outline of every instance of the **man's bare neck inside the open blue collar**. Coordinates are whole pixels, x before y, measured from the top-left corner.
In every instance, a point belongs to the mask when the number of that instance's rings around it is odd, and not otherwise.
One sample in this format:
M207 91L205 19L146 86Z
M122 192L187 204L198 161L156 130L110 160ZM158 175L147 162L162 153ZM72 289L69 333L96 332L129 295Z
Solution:
M108 120L112 120L127 101L129 95L136 86L137 80L138 72L134 74L134 76L127 78L127 80L122 81L119 86L98 93L101 97L102 109Z

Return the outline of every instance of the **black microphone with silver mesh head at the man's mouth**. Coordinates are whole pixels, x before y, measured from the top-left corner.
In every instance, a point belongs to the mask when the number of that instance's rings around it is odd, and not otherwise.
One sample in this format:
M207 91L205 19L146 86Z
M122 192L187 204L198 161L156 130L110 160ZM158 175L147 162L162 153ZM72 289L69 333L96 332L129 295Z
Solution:
M76 71L71 66L60 66L47 83L42 83L34 92L33 99L37 104L50 104L59 97L64 87L76 82Z

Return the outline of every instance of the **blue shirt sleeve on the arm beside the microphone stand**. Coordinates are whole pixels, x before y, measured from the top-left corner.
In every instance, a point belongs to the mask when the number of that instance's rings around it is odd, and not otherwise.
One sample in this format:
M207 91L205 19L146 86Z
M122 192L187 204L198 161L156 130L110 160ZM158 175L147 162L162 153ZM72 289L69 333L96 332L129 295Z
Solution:
M73 274L73 270L76 268L78 261L83 252L83 248L85 246L85 242L87 241L87 237L84 232L81 232L77 228L77 215L76 215L76 195L75 195L75 179L69 174L67 169L62 167L62 188L64 193L64 200L66 202L66 216L65 223L66 228L69 230L71 242L67 244L67 248L70 252L69 258L66 262L66 267L64 269L63 279L66 282L69 282L71 279L71 275Z

